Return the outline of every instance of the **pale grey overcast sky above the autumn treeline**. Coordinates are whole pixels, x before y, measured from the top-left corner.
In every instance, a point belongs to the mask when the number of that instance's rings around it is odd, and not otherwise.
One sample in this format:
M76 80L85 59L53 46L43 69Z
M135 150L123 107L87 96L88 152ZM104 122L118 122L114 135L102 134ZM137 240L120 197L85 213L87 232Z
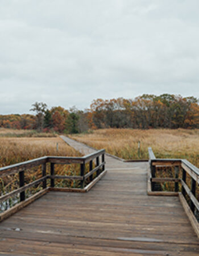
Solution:
M0 113L199 97L198 0L0 0Z

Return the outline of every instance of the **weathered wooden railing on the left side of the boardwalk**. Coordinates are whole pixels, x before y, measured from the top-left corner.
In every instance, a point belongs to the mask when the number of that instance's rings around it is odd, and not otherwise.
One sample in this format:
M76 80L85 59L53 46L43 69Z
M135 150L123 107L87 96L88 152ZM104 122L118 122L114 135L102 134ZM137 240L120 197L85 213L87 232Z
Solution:
M96 162L95 164L93 163L94 160ZM47 174L47 163L50 164L49 174ZM86 163L89 164L88 167L86 166ZM55 164L80 164L79 175L56 175ZM32 182L29 182L28 184L25 184L27 183L27 179L24 179L24 175L26 174L26 172L31 168L39 166L42 166L42 177ZM105 175L105 173L105 150L99 150L97 152L94 152L93 154L82 157L44 156L42 158L28 160L26 162L2 167L0 168L1 183L3 178L18 174L18 188L10 192L5 192L3 189L3 185L0 183L0 204L2 204L2 202L5 202L6 200L13 198L14 196L18 196L19 199L16 205L14 205L13 207L9 207L9 209L6 209L5 211L2 211L2 213L0 213L0 221L10 216L18 209L23 208L25 205L31 203L38 197L44 195L49 190L87 192L103 175ZM60 186L55 187L55 179L77 180L80 181L80 183L76 188ZM49 183L49 186L47 186L47 183ZM25 193L27 189L33 188L38 184L42 184L40 186L39 192L36 192L30 197L27 197Z

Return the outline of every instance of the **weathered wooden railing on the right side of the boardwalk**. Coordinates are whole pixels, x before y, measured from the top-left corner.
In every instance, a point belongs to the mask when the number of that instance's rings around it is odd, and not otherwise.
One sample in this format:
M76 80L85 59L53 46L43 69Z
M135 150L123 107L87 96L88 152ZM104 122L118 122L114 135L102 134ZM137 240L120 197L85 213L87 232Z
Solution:
M148 148L150 172L148 174L148 195L178 196L199 236L199 169L186 159L157 159ZM157 173L157 171L159 171ZM164 172L164 177L162 174ZM160 184L173 183L169 187ZM158 185L159 184L159 185ZM193 224L194 223L194 224Z

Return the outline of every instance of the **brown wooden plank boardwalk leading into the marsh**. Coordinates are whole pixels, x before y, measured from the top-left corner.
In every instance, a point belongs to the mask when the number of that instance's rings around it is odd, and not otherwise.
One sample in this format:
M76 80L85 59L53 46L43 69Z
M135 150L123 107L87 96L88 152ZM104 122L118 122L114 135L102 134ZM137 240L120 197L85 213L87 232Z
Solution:
M106 156L108 172L88 193L49 192L3 221L0 254L199 255L179 198L147 196L147 167Z

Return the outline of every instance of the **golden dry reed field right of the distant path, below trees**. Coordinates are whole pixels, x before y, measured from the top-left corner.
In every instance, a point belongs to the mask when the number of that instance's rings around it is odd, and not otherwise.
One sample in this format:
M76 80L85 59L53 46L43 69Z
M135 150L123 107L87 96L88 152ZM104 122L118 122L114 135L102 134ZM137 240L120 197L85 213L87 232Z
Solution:
M199 130L101 129L71 137L124 159L139 159L140 141L140 159L148 159L148 147L152 147L156 158L188 159L199 167Z

